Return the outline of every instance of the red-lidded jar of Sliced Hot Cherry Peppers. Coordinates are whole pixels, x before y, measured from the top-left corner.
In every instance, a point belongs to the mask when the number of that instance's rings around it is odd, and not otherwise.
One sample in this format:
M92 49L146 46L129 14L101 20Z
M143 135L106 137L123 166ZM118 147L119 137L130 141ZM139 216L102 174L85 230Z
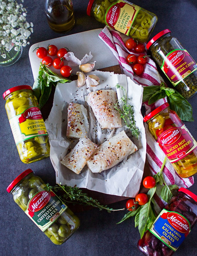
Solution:
M188 178L196 174L197 142L169 104L159 106L143 120L178 175Z

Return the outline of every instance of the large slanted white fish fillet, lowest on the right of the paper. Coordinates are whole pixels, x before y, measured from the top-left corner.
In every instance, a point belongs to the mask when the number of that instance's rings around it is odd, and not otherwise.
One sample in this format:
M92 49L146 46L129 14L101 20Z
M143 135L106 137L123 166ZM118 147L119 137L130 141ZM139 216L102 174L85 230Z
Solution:
M121 131L97 147L87 160L87 166L92 173L100 173L120 163L136 150L138 150L136 145L125 131Z

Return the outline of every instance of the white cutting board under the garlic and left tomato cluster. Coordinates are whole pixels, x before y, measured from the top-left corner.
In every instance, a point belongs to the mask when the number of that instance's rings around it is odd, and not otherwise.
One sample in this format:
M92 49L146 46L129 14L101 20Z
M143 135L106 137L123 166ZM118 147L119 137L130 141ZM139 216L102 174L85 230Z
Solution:
M112 51L98 37L101 31L102 29L94 29L38 42L32 45L29 49L29 58L34 80L38 75L41 59L37 57L36 51L33 52L33 50L38 46L47 48L49 44L56 45L58 49L67 47L79 60L81 60L85 54L89 54L91 52L93 58L90 62L96 61L94 68L95 70L118 65L118 61L112 54ZM56 56L52 58L54 59ZM54 69L52 66L50 69L58 74L60 73L59 70ZM76 74L76 71L80 71L79 67L73 67L72 73Z

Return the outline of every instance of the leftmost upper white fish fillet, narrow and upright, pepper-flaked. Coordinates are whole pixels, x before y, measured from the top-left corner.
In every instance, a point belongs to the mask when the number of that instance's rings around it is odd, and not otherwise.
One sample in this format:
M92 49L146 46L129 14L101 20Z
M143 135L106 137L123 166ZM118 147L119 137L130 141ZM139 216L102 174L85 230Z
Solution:
M88 136L88 132L87 109L82 104L71 102L68 106L66 136L69 138L84 138Z

